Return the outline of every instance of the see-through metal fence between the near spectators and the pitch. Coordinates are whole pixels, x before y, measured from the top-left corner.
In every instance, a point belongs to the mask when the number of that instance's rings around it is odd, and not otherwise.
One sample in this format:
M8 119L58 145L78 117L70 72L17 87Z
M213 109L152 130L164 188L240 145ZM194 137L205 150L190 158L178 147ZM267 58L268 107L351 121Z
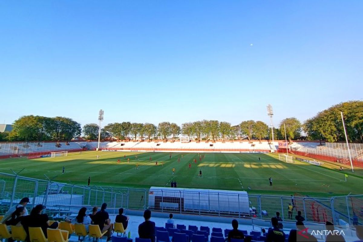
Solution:
M81 206L108 204L111 213L118 208L200 215L269 219L280 212L284 221L295 221L298 211L308 222L332 221L340 226L363 225L363 195L330 198L272 196L240 191L115 186L80 186L0 173L0 214L21 198L29 197L31 209L46 206L50 216L70 214ZM289 206L292 206L289 209Z

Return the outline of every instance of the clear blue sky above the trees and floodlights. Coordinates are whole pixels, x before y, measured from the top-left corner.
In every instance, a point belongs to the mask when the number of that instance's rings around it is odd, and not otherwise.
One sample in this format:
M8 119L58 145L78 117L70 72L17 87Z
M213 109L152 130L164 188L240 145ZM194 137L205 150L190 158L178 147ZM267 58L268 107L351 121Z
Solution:
M363 98L363 1L0 1L0 123L301 121ZM251 45L252 44L252 45Z

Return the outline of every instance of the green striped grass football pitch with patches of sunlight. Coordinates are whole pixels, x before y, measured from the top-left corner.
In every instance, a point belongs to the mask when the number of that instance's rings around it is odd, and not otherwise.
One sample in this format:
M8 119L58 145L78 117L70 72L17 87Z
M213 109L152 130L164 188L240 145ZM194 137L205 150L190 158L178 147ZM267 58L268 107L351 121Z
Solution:
M178 158L183 154L184 158ZM97 160L97 155L99 159ZM126 159L124 158L126 155ZM137 159L136 156L137 155ZM21 176L44 179L58 175L54 180L91 185L117 185L135 188L150 186L170 186L171 180L183 188L209 188L247 190L249 193L292 194L294 192L311 196L332 196L363 193L362 171L348 176L335 167L317 167L296 161L293 164L280 161L276 155L251 153L197 153L159 152L97 152L68 153L66 157L46 157L28 160L26 157L0 161L0 172L11 173L10 169L21 172ZM149 158L152 157L152 161ZM258 157L261 161L258 161ZM127 163L130 158L130 163ZM118 164L117 160L121 162ZM197 159L197 164L188 164ZM155 161L158 165L155 165ZM163 166L162 166L162 163ZM136 170L136 164L139 170ZM65 173L62 174L62 167ZM175 174L172 175L172 168ZM199 177L199 170L203 176ZM335 170L333 170L335 169ZM268 178L272 177L273 186Z

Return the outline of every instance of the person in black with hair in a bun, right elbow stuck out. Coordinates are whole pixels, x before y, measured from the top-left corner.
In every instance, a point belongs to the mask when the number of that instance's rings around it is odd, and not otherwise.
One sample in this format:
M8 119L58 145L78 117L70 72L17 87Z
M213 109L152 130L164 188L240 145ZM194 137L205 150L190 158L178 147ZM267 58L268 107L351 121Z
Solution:
M45 238L48 238L47 235L47 229L56 229L58 227L58 222L52 223L52 225L49 225L49 218L48 215L45 213L42 214L43 209L45 209L45 206L42 204L36 205L32 212L30 212L29 216L26 216L23 221L21 221L21 224L24 227L24 230L26 234L29 236L29 227L41 227L43 230Z

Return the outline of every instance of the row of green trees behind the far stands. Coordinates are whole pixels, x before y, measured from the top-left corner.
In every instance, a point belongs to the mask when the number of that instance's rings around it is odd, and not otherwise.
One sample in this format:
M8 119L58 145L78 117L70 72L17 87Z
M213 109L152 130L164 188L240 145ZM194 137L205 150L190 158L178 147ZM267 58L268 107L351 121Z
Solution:
M340 111L344 114L349 141L363 142L363 102L351 101L339 103L313 118L301 123L298 119L286 118L274 128L274 139L284 140L326 140L336 142L344 140L344 130ZM285 124L285 126L284 126ZM48 118L44 116L22 116L13 123L10 133L0 133L0 140L66 140L79 137L81 132L86 139L98 138L98 124L90 123L81 128L81 124L65 118ZM178 126L176 123L161 122L156 126L152 123L109 123L101 129L102 140L125 139L175 139L185 135L197 141L211 140L242 140L252 139L271 140L272 133L269 126L262 121L246 120L232 126L228 122L218 120L200 120L187 122Z

